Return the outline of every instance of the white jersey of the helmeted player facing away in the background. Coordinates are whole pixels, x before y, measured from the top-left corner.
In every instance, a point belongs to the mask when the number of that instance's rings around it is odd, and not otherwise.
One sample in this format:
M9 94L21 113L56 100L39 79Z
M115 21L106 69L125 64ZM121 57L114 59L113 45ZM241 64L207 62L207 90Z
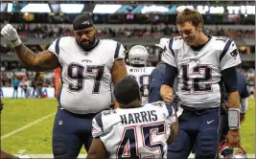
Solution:
M137 80L141 91L142 103L148 103L150 95L151 72L154 67L132 67L127 65L128 76Z

